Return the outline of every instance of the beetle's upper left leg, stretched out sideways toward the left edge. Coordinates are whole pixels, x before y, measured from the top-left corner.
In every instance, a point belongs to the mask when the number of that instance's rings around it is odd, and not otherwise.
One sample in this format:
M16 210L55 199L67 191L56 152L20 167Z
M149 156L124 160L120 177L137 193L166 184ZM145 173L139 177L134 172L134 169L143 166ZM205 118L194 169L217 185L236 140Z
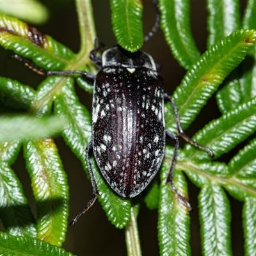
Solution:
M44 76L73 76L73 75L79 74L84 76L90 82L94 82L96 77L94 74L90 74L81 70L55 70L55 71L45 70L44 68L37 67L35 64L31 63L29 60L17 54L14 54L12 58L22 61L27 67L31 68L36 73Z

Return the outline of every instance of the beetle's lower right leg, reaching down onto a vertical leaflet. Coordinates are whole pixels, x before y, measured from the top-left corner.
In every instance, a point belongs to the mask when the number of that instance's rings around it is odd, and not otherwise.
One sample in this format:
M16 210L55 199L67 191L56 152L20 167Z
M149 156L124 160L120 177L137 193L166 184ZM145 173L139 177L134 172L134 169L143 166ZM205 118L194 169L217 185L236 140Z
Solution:
M182 204L186 205L186 207L188 207L189 212L192 211L192 207L189 204L188 200L186 200L186 198L184 198L184 196L182 196L179 191L177 190L177 188L175 188L175 186L173 185L173 172L174 172L174 168L175 168L175 163L177 160L177 156L178 156L178 150L179 150L179 138L173 134L172 132L169 131L165 131L166 134L166 140L172 140L174 141L174 152L173 152L173 157L172 157L172 164L170 167L170 171L167 177L167 182L170 185L173 193L175 193L175 195L178 196L179 200L182 202Z

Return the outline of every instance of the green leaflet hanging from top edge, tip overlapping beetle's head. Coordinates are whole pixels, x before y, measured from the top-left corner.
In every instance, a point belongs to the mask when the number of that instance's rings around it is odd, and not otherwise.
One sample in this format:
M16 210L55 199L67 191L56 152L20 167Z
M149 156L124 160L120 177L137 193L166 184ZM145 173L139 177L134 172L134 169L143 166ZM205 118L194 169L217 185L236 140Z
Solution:
M142 3L140 0L111 0L111 20L118 45L136 52L143 45Z

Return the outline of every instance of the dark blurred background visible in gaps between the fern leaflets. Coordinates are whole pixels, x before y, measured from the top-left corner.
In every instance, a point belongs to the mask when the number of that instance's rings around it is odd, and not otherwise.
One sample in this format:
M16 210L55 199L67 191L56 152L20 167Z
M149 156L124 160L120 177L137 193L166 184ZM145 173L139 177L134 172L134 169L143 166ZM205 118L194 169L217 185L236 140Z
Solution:
M79 31L77 27L76 6L74 1L42 1L51 12L51 17L44 26L36 26L42 33L51 35L62 44L67 45L74 52L79 51ZM92 0L93 12L95 15L95 25L97 36L100 42L107 47L116 44L115 37L111 30L111 13L109 1ZM156 19L156 13L151 0L144 1L144 33L152 28ZM245 0L241 2L241 12L243 12ZM191 28L193 36L200 52L205 51L207 29L207 11L205 1L191 0ZM148 52L162 67L161 74L164 77L165 90L169 94L180 84L185 70L179 67L177 61L173 60L170 49L164 42L163 33L158 31L146 45L143 51ZM12 77L24 84L29 84L36 88L44 77L26 68L16 60L10 60L12 52L0 49L0 76ZM91 109L92 95L84 92L76 86L77 95L81 102ZM193 136L198 129L204 127L209 121L218 118L220 112L216 106L216 100L212 97L205 106L195 122L186 131L189 136ZM56 144L60 152L63 166L68 175L70 186L70 217L84 207L92 195L92 186L86 179L82 164L72 154L61 138L56 138ZM181 144L184 145L184 144ZM86 145L84 145L86 147ZM237 150L237 149L236 149ZM223 159L223 161L228 161ZM18 161L13 164L13 169L17 172L24 190L29 198L29 202L35 211L35 200L33 199L28 173L26 172L22 152ZM199 189L189 182L189 202L194 211L191 213L191 246L192 255L202 255L200 252L200 228L198 221L197 195ZM243 230L241 223L242 204L230 198L232 206L232 249L234 255L244 255L243 251ZM159 255L157 244L157 211L149 211L141 200L141 209L138 216L138 226L140 230L141 248L143 255ZM116 229L106 218L99 202L96 202L90 211L86 212L75 228L68 227L67 239L63 247L76 255L127 255L125 248L124 230Z

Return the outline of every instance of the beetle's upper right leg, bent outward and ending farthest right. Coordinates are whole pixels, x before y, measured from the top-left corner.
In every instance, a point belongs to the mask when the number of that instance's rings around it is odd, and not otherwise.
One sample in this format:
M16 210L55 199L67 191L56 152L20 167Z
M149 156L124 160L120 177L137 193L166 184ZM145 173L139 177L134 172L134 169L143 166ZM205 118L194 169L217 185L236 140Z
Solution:
M172 108L173 108L173 111L174 111L174 116L175 116L175 120L176 120L176 124L177 124L178 135L180 137L182 137L184 140L188 141L191 145L194 145L195 147L198 147L198 148L201 148L202 150L205 150L211 156L211 158L213 159L214 158L214 153L212 152L212 150L210 148L205 147L204 145L201 145L200 143L197 143L195 140L192 140L182 130L182 127L181 127L181 124L180 124L178 109L177 109L177 106L176 106L174 100L172 99L172 97L170 97L169 95L164 93L164 100L168 100L172 104Z

